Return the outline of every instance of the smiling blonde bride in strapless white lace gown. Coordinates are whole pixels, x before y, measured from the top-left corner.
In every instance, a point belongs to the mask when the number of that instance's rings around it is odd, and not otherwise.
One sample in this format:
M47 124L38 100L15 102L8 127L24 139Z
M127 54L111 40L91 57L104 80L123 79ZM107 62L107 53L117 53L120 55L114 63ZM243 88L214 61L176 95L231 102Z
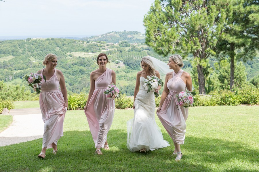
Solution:
M155 70L150 57L143 57L140 65L143 70L137 73L133 104L134 118L127 121L127 148L132 152L145 153L148 150L170 146L170 144L163 139L155 121L154 92L151 90L147 93L143 86L147 76L160 78L160 74ZM155 92L158 92L160 88L161 86L158 86Z

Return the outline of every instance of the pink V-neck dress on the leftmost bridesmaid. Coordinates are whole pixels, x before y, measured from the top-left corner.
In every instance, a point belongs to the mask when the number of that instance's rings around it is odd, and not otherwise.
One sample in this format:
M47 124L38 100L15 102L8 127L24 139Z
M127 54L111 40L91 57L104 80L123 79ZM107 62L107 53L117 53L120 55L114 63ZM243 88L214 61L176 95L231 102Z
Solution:
M43 74L43 70L41 74ZM54 75L49 80L41 83L39 96L42 119L44 122L44 133L42 148L52 148L52 143L58 144L58 139L63 136L63 123L67 108L62 92L59 90L59 81Z

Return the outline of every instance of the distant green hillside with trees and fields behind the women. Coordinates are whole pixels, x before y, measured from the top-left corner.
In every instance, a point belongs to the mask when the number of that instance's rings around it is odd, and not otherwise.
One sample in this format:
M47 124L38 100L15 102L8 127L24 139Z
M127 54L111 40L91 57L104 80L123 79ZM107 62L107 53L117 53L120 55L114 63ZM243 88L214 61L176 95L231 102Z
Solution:
M58 56L58 66L66 80L68 92L88 92L90 88L90 72L97 69L96 57L99 53L108 55L110 64L107 67L116 72L117 84L122 93L134 94L136 73L141 70L140 59L146 55L162 61L168 57L158 55L152 48L144 44L145 36L137 31L108 32L101 36L91 36L82 40L62 38L27 38L26 40L0 41L0 80L8 85L24 84L21 78L30 72L37 72L44 66L42 61L46 54ZM191 72L190 55L184 60L184 70ZM210 66L218 60L210 57ZM244 63L247 78L250 80L259 74L259 59ZM214 71L213 71L214 72ZM162 75L163 76L163 75ZM164 77L164 76L163 76ZM30 89L28 87L28 89ZM32 89L31 89L32 91Z

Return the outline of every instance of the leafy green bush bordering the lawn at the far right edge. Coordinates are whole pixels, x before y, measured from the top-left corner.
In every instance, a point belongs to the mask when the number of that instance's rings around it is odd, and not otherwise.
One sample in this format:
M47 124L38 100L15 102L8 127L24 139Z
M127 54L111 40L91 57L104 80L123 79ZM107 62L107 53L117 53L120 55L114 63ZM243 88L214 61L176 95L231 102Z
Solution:
M242 96L241 104L259 105L259 88L248 85L238 92Z

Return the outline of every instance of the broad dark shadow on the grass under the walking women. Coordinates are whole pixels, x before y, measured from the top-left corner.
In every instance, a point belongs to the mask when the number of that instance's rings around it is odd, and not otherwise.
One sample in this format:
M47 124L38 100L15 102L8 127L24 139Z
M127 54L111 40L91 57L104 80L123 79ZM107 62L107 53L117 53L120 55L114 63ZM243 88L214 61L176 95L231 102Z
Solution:
M125 130L110 130L110 150L99 156L89 131L69 131L58 141L57 155L48 149L44 160L37 158L42 139L3 146L0 171L251 171L249 165L258 165L258 150L238 142L186 137L180 162L174 161L173 146L140 154L130 152L126 142Z

